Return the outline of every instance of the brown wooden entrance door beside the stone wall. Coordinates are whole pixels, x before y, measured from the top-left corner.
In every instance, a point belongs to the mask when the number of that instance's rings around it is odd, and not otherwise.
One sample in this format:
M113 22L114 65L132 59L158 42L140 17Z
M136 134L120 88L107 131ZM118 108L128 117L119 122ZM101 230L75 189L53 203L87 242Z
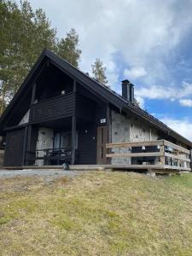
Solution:
M96 163L97 165L106 165L106 143L107 143L107 126L97 127L97 152Z

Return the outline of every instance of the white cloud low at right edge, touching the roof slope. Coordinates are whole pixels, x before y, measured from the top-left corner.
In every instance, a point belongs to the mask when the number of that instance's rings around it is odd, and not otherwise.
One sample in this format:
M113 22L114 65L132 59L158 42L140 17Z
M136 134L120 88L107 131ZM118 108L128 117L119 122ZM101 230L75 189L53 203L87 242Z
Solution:
M192 142L192 123L189 119L160 119L163 123L168 125L172 130L177 131Z

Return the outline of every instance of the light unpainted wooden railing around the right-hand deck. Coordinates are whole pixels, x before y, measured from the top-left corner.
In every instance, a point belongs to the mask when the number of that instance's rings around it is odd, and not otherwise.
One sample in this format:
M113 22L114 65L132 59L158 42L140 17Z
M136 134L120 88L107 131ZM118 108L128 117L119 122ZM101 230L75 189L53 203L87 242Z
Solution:
M129 160L131 167L139 169L170 169L191 171L190 150L166 140L135 143L108 143L106 157Z

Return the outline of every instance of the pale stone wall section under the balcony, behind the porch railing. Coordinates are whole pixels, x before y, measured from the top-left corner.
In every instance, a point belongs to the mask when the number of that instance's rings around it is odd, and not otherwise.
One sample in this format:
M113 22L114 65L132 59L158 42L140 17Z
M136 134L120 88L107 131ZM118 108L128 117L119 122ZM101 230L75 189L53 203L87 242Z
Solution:
M39 127L36 150L53 148L54 130L46 127ZM44 151L39 151L38 156L44 156ZM37 166L43 166L44 160L36 160Z

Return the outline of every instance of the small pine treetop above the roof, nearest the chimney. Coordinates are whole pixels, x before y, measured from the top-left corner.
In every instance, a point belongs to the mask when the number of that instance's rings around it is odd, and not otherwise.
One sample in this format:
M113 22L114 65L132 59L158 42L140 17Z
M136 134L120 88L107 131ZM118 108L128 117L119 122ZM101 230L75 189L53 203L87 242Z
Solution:
M92 67L92 73L94 75L94 79L99 81L101 84L108 85L108 79L105 75L106 67L103 66L103 63L100 59L96 59Z

